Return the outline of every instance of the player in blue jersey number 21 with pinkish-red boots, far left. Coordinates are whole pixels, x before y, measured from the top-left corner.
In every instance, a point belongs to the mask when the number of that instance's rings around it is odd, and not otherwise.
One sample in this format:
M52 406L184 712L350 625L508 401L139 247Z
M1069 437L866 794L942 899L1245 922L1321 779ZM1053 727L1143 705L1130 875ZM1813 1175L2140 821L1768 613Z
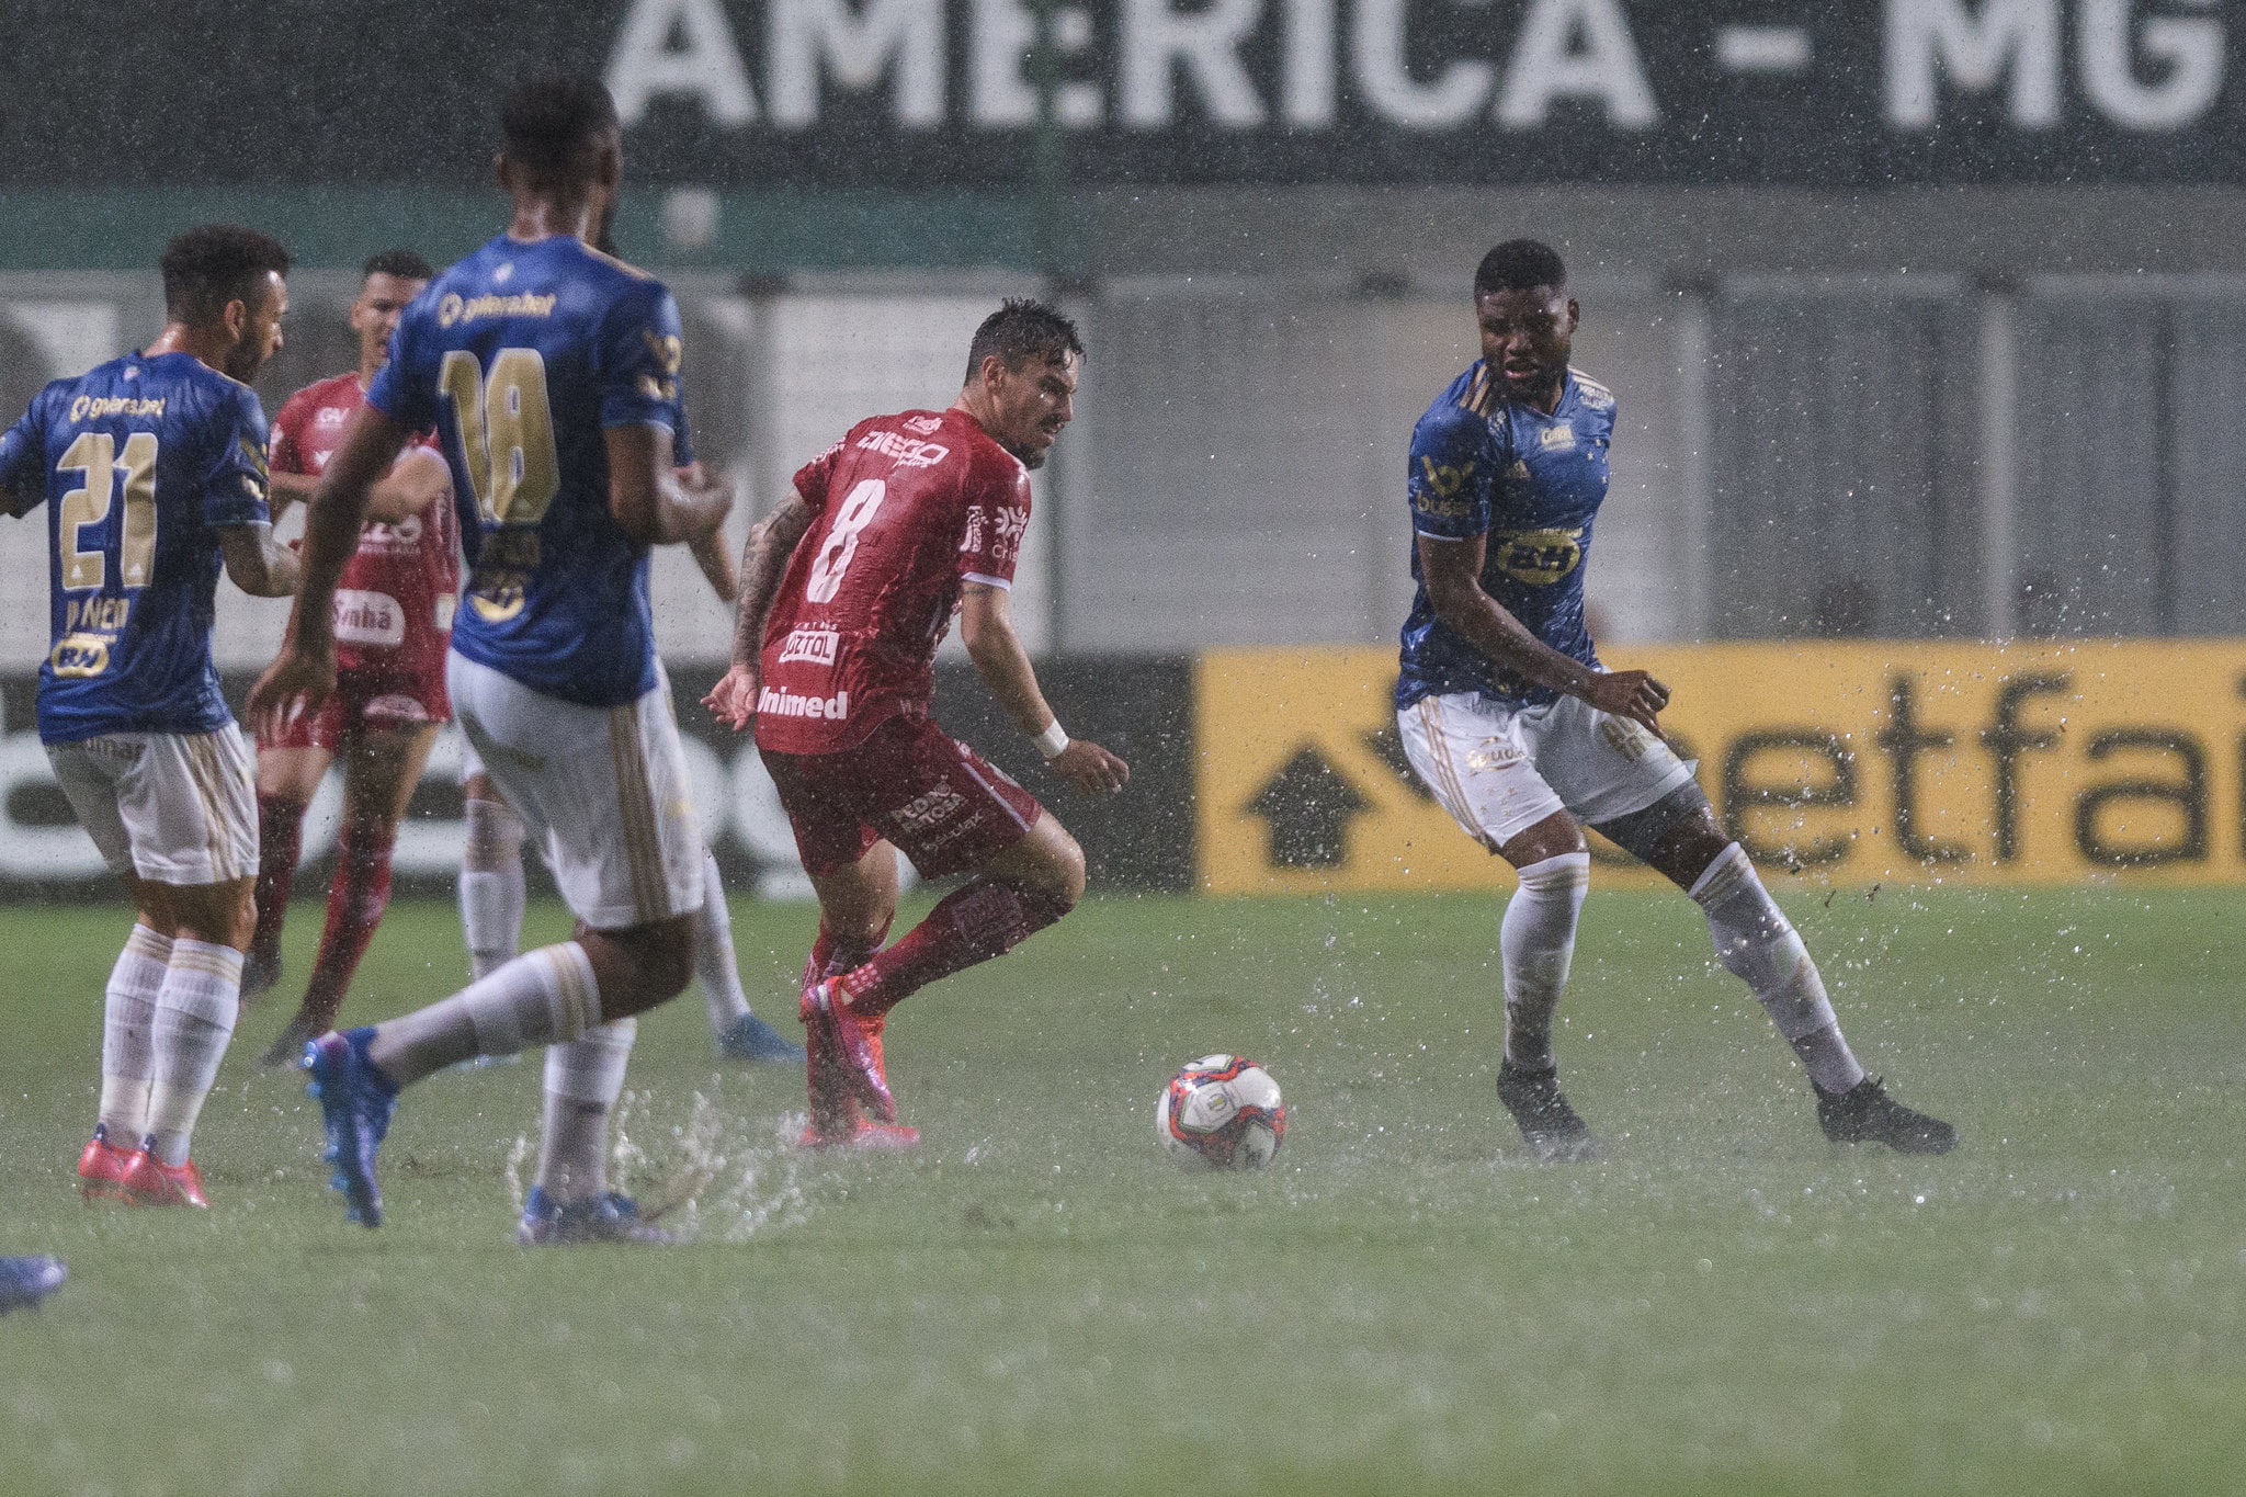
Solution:
M0 435L11 514L47 505L54 649L38 736L137 922L110 972L88 1196L207 1205L189 1142L234 1037L256 920L249 745L218 694L218 570L285 597L265 413L247 379L281 348L287 251L207 224L164 247L164 332L56 379Z

